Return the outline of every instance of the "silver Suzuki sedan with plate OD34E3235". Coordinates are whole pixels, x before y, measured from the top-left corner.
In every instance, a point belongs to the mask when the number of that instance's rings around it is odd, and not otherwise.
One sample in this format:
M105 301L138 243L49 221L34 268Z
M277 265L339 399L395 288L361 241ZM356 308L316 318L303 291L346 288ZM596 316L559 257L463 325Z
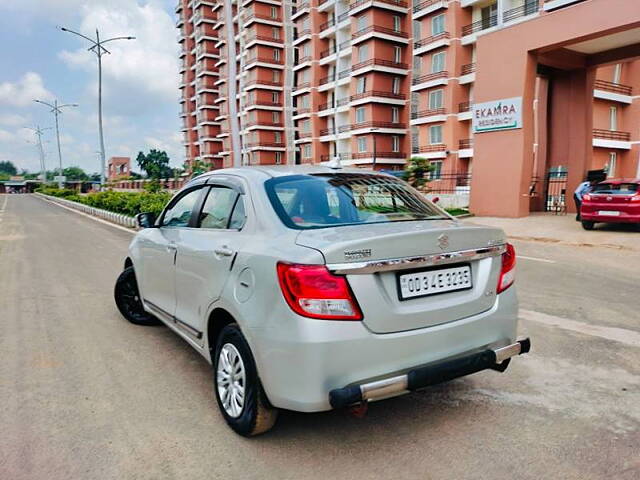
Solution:
M137 233L115 286L129 321L163 322L213 365L241 435L278 409L363 405L529 351L515 251L404 181L355 169L201 175Z

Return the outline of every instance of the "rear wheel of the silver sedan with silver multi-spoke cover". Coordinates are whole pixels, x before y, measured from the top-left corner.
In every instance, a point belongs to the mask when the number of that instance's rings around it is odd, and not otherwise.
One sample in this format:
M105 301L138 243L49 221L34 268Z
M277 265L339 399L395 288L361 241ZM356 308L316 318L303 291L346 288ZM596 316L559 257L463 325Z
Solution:
M213 352L216 400L227 424L245 437L270 430L278 410L268 403L251 349L236 323L222 329Z

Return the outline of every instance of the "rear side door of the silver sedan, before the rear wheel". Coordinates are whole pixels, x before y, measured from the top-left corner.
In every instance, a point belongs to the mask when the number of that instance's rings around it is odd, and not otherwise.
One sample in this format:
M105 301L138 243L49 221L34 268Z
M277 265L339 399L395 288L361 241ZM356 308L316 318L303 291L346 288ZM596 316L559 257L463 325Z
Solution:
M217 300L246 236L246 198L233 185L207 187L198 228L185 234L176 256L176 321L200 339L209 305Z

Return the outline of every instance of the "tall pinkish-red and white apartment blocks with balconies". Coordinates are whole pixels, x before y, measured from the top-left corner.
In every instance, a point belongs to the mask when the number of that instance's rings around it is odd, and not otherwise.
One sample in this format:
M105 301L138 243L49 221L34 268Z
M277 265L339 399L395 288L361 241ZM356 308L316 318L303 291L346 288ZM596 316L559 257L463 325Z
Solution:
M587 1L180 0L185 158L400 169L414 155L434 185L468 188L478 38ZM640 62L598 69L593 168L635 175L639 83Z

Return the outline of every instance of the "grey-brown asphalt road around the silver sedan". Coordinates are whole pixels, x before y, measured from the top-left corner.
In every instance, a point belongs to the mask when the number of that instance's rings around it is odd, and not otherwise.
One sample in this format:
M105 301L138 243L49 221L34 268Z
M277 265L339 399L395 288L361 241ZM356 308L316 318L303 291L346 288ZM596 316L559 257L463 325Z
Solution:
M0 195L0 479L640 478L637 252L517 242L533 350L506 373L245 439L196 352L116 311L130 238Z

